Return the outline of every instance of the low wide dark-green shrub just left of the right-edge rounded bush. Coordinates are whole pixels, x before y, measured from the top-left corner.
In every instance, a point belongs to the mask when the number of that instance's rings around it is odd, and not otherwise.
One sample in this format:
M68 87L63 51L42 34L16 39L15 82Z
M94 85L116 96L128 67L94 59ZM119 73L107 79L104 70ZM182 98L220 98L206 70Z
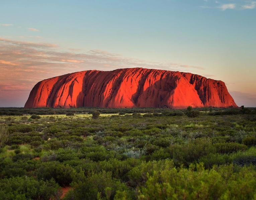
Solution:
M233 153L237 151L245 151L247 149L246 145L235 142L216 143L214 146L218 153Z

